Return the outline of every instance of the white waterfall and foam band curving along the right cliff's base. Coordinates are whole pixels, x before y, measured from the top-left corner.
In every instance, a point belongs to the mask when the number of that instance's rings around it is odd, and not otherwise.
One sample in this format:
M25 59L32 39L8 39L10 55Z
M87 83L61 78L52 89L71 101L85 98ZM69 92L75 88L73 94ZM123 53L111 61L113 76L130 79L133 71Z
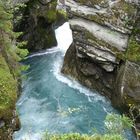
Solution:
M70 29L70 25L68 22L64 23L61 27L55 30L56 39L58 42L58 48L60 51L65 54L71 43L73 42L72 31ZM59 57L59 59L54 63L53 73L57 80L67 84L69 87L79 90L80 93L84 93L88 96L89 101L91 101L90 97L94 97L94 101L102 100L106 102L103 96L100 96L96 93L93 93L88 88L79 84L76 80L66 77L61 73L61 67L63 63L63 57Z

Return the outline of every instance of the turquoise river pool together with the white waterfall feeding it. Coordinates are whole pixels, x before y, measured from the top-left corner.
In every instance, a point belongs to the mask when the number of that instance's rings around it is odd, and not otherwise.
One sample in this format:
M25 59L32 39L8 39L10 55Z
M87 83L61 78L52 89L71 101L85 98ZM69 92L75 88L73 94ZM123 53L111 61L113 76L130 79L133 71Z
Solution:
M30 55L23 62L30 68L23 73L26 78L17 102L21 129L14 140L40 140L45 131L91 134L96 128L104 132L107 113L117 113L104 97L60 73L72 42L68 23L56 30L56 37L57 47Z

